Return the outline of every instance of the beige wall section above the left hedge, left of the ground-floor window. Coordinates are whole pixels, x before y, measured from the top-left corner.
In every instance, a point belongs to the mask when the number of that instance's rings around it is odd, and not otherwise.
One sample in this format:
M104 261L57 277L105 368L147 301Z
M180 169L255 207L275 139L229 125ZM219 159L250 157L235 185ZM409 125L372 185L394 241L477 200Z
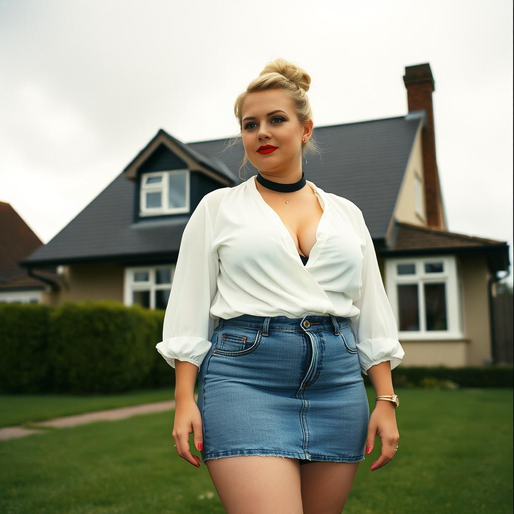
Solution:
M123 302L123 267L116 264L73 264L64 267L67 288L46 293L44 303L59 305L65 300L116 300Z

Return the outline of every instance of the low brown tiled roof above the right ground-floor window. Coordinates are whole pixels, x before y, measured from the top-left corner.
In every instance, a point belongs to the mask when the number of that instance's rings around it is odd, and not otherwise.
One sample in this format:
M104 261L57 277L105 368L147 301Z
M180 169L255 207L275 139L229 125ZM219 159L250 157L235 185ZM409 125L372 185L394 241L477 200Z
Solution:
M508 244L486 237L447 232L434 228L395 221L391 238L382 255L414 255L434 253L469 253L485 250L489 269L494 271L509 268Z

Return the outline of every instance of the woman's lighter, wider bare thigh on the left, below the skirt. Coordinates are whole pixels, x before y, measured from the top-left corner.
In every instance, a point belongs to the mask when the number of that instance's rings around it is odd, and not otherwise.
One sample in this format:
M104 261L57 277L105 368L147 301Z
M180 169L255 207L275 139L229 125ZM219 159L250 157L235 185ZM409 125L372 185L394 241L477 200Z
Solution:
M303 514L297 459L237 455L205 464L227 514Z

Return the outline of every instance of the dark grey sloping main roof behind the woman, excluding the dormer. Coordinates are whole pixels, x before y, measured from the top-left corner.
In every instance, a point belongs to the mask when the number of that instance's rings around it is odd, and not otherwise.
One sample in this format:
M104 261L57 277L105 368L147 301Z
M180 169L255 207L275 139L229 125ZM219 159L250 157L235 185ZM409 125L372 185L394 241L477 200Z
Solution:
M314 130L322 152L321 157L308 157L307 164L303 164L306 178L328 193L352 200L362 210L373 238L385 237L423 113L322 126ZM160 130L158 135L162 136L162 132ZM223 166L218 165L217 169L228 169L237 185L254 175L256 170L248 164L242 171L242 180L238 178L244 155L242 144L226 149L228 141L227 138L197 141L187 146L190 155L204 156L204 163L214 167L215 163L222 162ZM228 173L225 176L230 177ZM93 260L149 263L152 259L157 262L163 256L172 259L178 252L189 215L134 224L135 187L135 182L128 180L122 171L24 264Z

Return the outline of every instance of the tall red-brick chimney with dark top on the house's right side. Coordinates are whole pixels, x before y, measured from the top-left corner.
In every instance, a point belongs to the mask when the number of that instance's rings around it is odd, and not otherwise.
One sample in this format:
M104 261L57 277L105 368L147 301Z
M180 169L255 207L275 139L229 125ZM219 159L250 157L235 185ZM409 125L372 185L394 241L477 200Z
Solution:
M432 104L435 82L430 64L406 66L403 82L407 88L409 112L425 109L427 113L427 123L421 133L427 223L431 228L446 229L435 156L434 109Z

